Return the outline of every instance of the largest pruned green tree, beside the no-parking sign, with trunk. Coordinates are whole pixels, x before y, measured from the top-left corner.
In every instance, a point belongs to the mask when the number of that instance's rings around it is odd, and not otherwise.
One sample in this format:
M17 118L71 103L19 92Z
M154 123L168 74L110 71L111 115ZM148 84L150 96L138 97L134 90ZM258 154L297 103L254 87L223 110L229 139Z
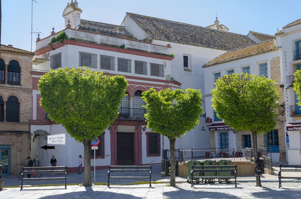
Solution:
M91 141L118 117L128 86L123 76L89 68L50 70L39 80L40 104L51 120L84 145L84 186L91 186Z

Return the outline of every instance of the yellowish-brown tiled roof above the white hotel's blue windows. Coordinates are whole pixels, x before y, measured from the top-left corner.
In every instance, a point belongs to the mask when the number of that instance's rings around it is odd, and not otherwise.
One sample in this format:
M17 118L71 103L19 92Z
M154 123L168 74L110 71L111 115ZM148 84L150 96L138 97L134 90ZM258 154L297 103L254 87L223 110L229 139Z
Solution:
M208 67L208 66L214 66L216 64L221 64L225 62L230 62L233 60L238 60L246 57L251 57L258 54L267 53L270 51L277 50L276 47L276 40L271 39L268 41L263 41L260 43L256 43L253 45L233 49L231 51L227 51L224 54L221 54L220 56L214 58L213 60L209 61L208 63L204 64L202 68Z

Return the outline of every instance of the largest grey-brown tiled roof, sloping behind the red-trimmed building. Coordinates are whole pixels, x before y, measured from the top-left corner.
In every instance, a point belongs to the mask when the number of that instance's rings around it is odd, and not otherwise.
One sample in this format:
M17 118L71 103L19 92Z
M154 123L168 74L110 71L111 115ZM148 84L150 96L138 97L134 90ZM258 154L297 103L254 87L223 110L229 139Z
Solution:
M246 35L148 17L139 14L126 14L156 40L214 48L219 50L231 50L233 48L243 47L255 43Z

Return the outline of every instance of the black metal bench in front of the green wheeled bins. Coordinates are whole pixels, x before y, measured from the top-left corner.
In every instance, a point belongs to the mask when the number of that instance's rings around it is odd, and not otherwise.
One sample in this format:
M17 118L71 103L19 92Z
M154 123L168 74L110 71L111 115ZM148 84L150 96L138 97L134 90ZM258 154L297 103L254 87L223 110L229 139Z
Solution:
M196 165L192 165L191 166L191 187L194 187L193 185L193 180L199 180L202 179L203 180L212 180L212 179L219 179L219 183L222 183L222 180L230 180L230 179L235 179L235 187L237 187L236 184L236 175L237 175L237 166L235 165L214 165L214 166L196 166ZM230 176L193 176L194 172L230 172L231 174L234 174L234 176L230 175ZM228 181L229 182L229 181Z

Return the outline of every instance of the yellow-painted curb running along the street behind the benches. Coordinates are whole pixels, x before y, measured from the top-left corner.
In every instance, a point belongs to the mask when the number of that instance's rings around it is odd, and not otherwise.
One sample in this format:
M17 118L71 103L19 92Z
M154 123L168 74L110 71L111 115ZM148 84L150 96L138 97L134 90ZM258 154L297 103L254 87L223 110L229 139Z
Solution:
M256 180L236 180L236 182L242 182L242 183L246 183L246 182L256 182ZM261 182L279 182L278 180L261 180ZM281 180L281 182L288 182L288 180ZM293 181L289 181L289 182L301 182L301 180L293 180ZM152 184L168 184L169 181L152 181ZM183 180L183 181L175 181L175 183L187 183L187 181ZM81 185L82 183L70 183L67 184L67 186L71 186L71 185ZM132 183L123 183L123 184L111 184L111 185L143 185L143 184L149 184L149 182L132 182ZM96 183L92 183L92 185L107 185L107 183L105 182L96 182ZM27 186L23 186L23 187L49 187L49 186L65 186L65 184L46 184L46 185L27 185ZM20 186L6 186L3 188L20 188Z

